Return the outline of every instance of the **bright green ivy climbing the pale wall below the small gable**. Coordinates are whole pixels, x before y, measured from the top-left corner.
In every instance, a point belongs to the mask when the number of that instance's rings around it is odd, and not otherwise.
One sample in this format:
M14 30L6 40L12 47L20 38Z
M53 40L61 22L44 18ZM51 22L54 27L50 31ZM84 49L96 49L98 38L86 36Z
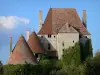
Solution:
M63 62L66 65L71 63L79 65L80 64L80 46L79 43L76 43L75 46L69 47L63 52Z

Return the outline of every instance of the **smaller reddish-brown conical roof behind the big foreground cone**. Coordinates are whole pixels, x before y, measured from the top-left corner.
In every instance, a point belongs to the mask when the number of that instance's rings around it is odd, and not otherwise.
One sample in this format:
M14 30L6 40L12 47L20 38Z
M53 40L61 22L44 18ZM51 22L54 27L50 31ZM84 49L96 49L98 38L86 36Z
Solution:
M28 45L33 53L44 53L44 49L42 48L39 38L35 32L29 36Z

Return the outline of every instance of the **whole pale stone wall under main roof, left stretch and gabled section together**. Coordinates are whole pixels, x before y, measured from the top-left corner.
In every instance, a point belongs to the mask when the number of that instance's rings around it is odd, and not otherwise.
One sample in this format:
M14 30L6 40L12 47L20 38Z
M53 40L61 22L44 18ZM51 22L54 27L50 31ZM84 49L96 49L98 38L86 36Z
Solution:
M51 38L48 38L48 35L38 36L45 50L48 50L48 43L52 45L51 50L57 50L58 59L62 58L63 49L66 49L69 46L74 46L74 44L79 41L79 33L58 33L58 35L51 35ZM62 45L63 42L64 46Z

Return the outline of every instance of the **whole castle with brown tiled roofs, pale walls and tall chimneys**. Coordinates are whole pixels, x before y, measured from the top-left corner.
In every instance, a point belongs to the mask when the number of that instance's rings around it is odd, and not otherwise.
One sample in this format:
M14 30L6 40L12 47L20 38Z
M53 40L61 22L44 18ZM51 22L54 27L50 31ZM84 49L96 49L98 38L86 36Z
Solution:
M43 24L40 11L38 33L26 31L26 34L26 39L20 36L13 50L10 39L8 64L34 64L45 52L50 58L61 59L64 49L91 38L86 25L86 10L83 10L81 21L74 8L50 8Z

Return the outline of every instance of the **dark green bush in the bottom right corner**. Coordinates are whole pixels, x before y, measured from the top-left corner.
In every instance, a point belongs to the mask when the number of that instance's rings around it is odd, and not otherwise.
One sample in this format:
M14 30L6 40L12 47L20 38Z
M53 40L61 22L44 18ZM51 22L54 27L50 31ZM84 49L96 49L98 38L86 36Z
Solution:
M88 58L85 65L85 75L100 75L100 52L97 52L93 58Z

